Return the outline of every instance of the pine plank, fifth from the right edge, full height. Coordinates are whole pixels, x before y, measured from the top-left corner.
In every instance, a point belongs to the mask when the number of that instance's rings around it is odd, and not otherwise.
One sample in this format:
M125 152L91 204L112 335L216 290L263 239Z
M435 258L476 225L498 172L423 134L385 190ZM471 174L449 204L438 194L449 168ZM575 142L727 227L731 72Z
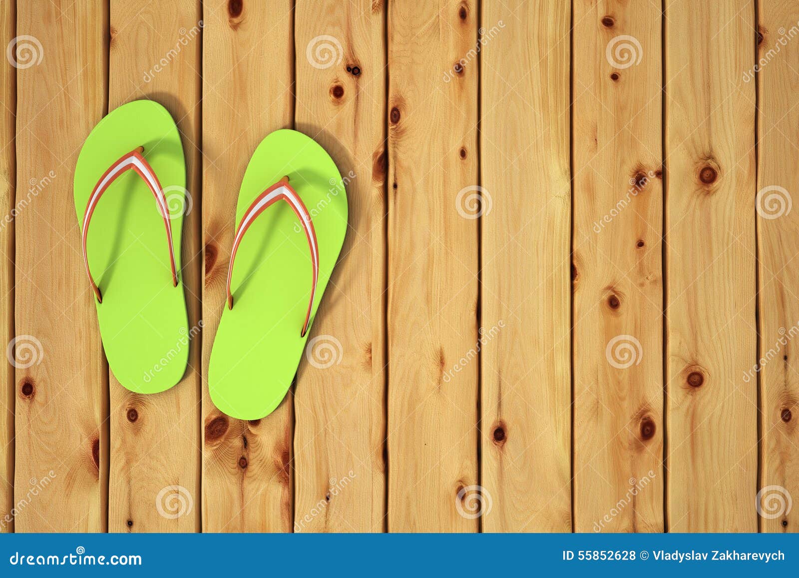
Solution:
M466 211L478 184L479 70L452 70L475 48L478 17L475 2L388 6L391 532L478 529L464 508L478 483L478 221Z

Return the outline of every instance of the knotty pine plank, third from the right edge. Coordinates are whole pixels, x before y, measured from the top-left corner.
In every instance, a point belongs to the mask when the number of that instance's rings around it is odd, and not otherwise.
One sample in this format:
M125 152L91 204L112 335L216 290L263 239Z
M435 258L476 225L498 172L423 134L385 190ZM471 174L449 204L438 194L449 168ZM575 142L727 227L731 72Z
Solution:
M574 531L662 532L662 16L574 3Z

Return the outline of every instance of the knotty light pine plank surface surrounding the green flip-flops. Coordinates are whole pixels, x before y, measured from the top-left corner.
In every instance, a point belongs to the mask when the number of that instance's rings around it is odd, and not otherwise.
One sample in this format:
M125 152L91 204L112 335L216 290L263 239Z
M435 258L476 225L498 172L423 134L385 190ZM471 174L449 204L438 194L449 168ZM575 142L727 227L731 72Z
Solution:
M0 0L0 48L0 531L799 530L795 2ZM153 396L103 357L72 191L139 98L202 327ZM317 349L238 421L205 374L281 128L349 228Z

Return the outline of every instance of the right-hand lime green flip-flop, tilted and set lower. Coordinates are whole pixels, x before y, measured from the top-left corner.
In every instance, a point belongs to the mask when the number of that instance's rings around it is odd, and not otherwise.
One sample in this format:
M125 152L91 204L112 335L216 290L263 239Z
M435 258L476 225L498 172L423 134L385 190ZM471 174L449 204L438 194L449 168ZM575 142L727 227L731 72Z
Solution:
M236 220L208 383L223 413L257 420L292 385L344 243L347 193L336 163L302 133L269 134L244 173Z

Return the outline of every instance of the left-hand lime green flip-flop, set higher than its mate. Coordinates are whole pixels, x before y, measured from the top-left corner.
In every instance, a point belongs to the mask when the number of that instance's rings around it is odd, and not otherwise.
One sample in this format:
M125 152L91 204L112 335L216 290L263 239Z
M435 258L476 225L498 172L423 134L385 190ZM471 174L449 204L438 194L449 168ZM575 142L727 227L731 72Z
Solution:
M147 100L97 123L75 167L75 211L105 356L136 393L169 389L189 360L180 274L191 201L185 175L175 122Z

